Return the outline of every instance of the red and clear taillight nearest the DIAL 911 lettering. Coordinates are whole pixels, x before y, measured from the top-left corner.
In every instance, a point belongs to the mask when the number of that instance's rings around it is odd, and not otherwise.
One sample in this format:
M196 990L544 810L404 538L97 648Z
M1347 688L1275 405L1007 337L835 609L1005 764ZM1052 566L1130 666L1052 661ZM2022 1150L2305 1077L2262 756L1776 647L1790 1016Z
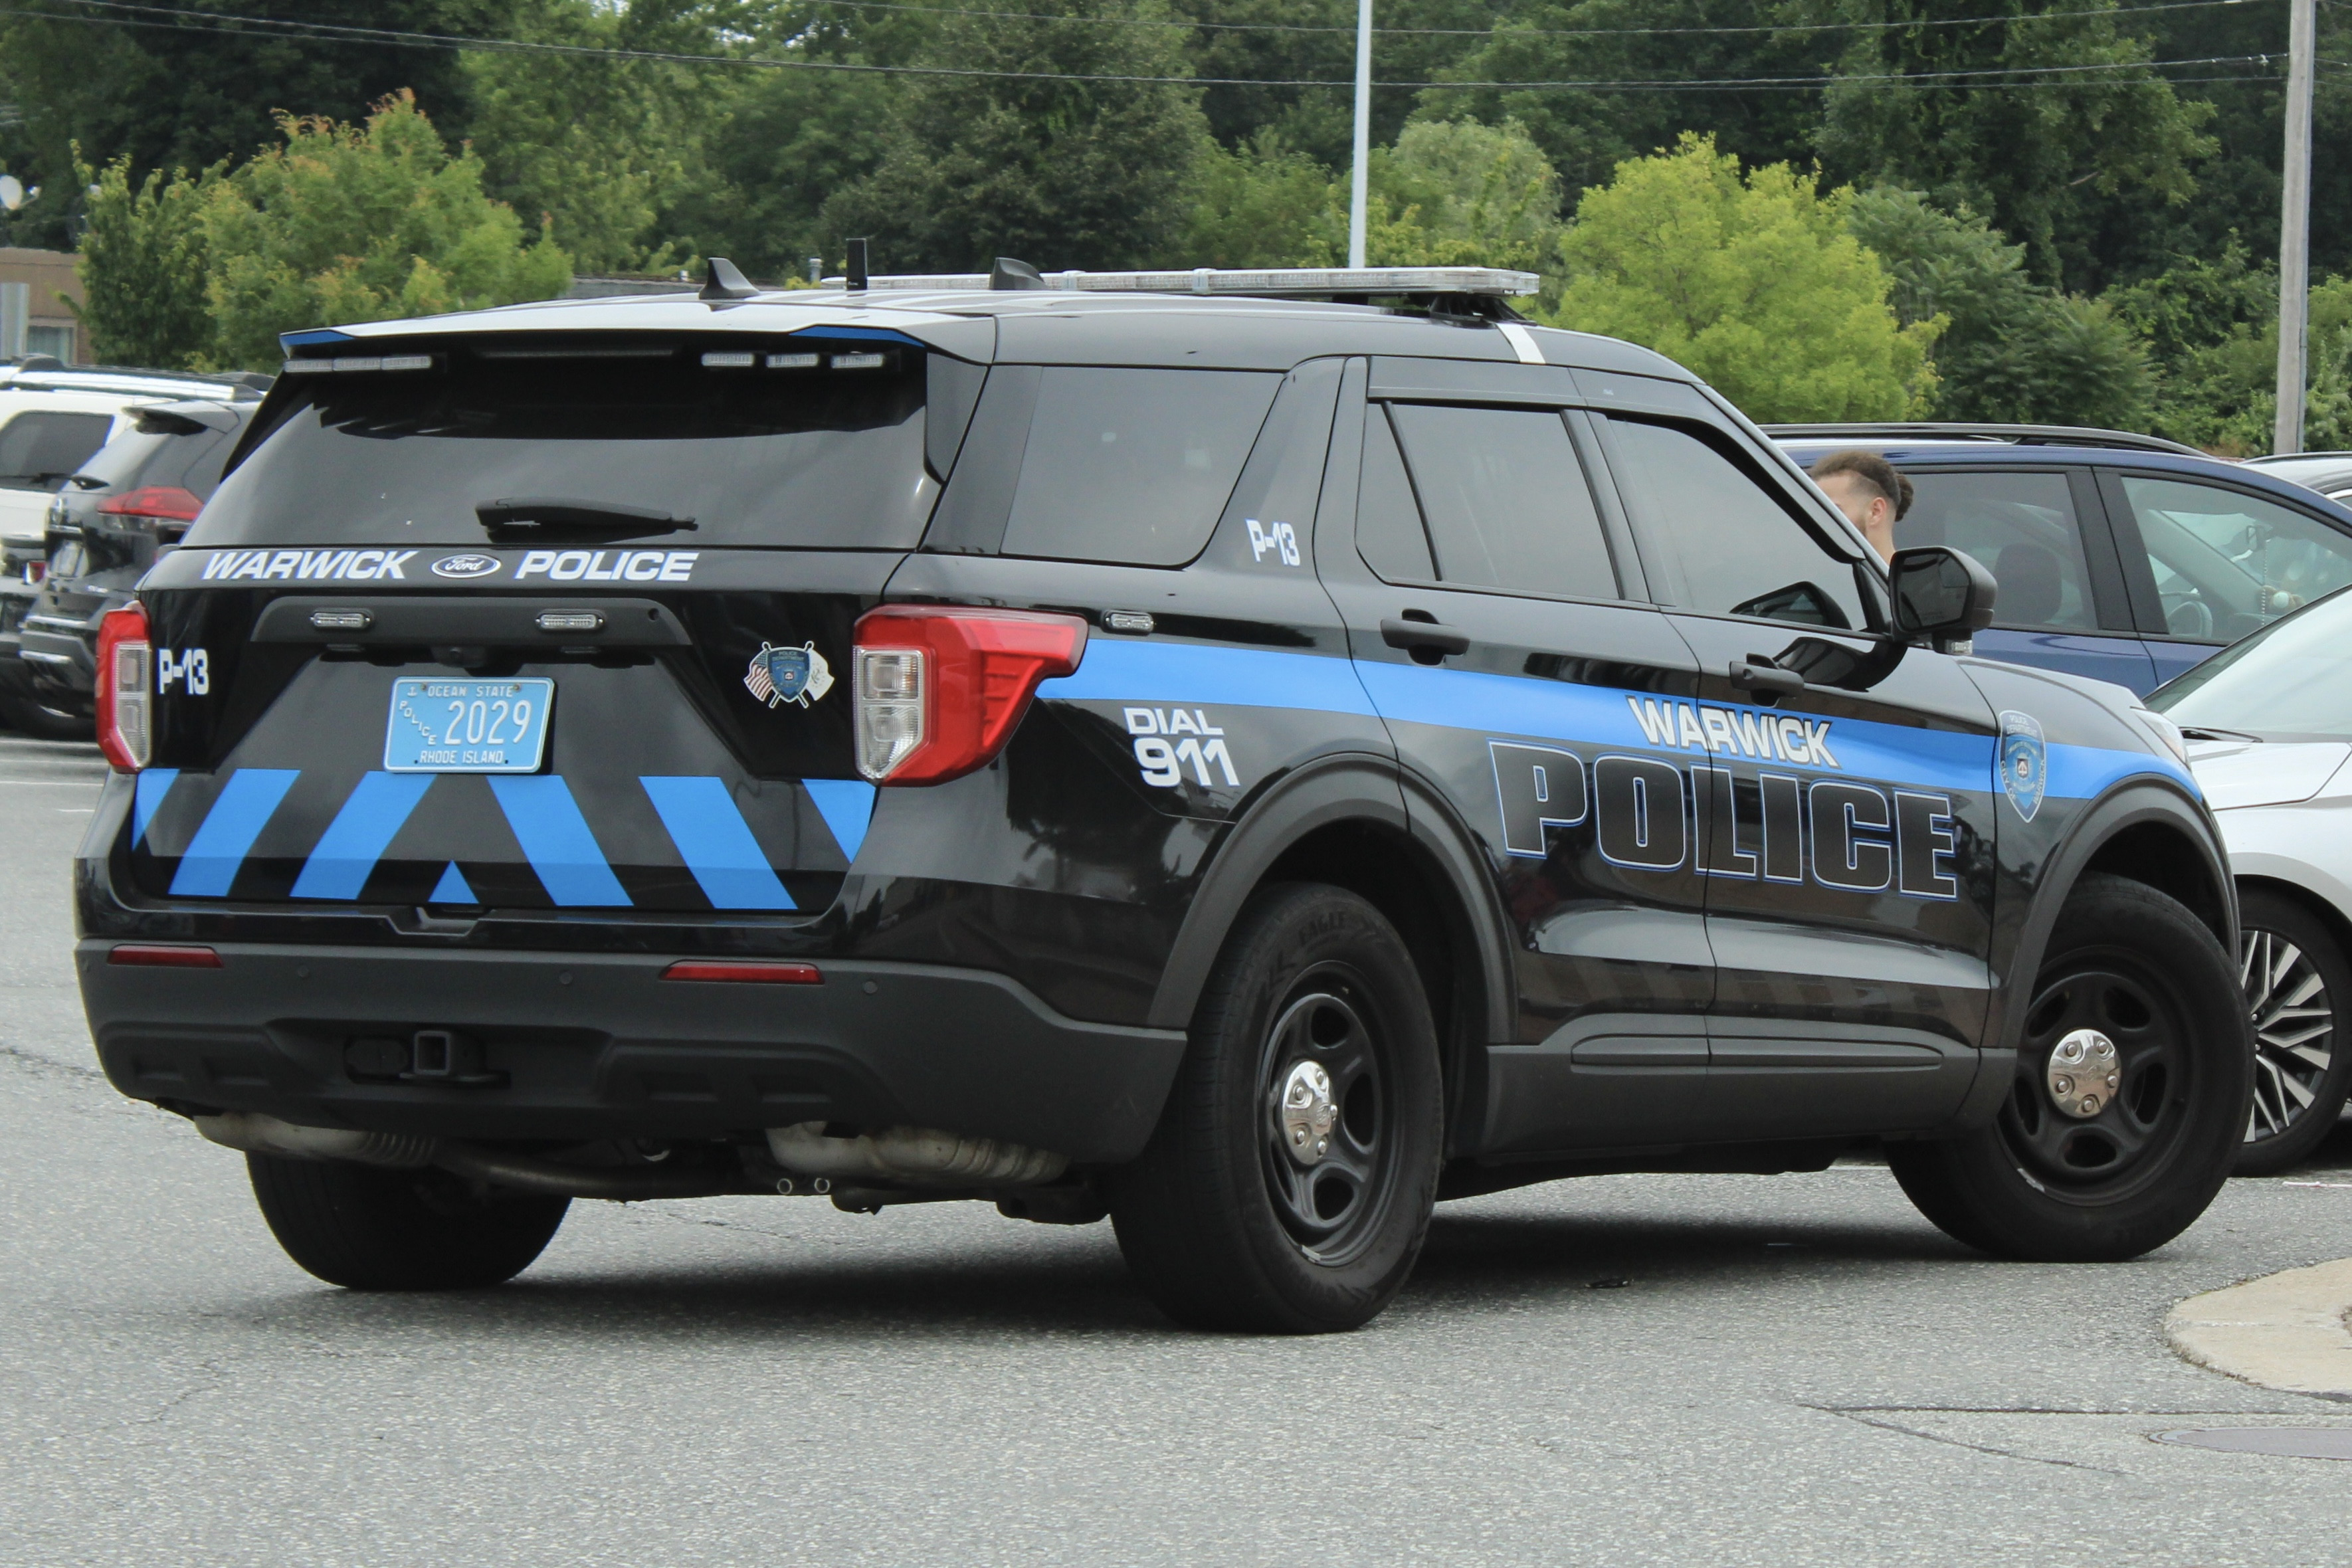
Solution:
M887 604L849 649L858 771L875 783L943 783L988 766L1037 682L1070 675L1087 623L1025 609Z

